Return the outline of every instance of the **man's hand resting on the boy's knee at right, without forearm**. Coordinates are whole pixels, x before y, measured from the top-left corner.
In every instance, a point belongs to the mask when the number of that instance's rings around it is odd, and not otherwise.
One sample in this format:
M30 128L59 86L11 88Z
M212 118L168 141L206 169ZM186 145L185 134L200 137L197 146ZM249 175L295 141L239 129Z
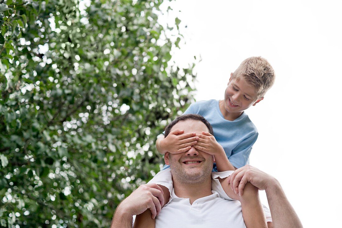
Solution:
M240 196L244 193L247 182L250 182L260 190L265 190L268 186L278 183L274 177L251 165L245 165L244 167L235 170L234 173L227 178L227 181L230 183L233 191Z

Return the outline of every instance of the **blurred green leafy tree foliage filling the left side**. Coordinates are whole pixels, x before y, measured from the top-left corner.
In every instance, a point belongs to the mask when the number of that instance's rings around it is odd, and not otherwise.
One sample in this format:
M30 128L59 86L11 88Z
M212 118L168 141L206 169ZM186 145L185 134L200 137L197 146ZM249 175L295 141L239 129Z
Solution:
M0 0L0 226L109 227L159 171L195 78L170 61L182 36L160 4Z

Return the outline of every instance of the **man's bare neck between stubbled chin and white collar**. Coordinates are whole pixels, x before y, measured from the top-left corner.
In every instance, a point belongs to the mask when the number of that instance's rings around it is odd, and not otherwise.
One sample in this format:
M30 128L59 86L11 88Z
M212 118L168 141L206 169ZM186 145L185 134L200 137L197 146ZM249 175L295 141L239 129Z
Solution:
M173 180L174 193L179 198L189 198L190 204L195 200L210 196L211 192L211 178L200 184L183 184L177 180Z

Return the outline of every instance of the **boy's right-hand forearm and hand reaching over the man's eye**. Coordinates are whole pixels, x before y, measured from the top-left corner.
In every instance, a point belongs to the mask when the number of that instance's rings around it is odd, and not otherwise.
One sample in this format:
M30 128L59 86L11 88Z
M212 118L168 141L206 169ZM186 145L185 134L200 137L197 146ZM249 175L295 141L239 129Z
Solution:
M196 134L199 139L198 143L194 147L203 152L213 155L216 162L216 167L219 172L236 170L232 163L228 160L223 147L216 141L215 137L209 132L202 132L202 134Z

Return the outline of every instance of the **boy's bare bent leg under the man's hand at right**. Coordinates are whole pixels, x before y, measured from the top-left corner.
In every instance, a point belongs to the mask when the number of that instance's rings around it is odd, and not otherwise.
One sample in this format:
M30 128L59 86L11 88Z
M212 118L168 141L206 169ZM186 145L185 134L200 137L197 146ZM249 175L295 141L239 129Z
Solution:
M242 208L242 216L247 228L267 228L266 217L259 199L259 190L252 184L245 187L243 196L235 194L227 178L219 178L221 186L226 194L235 200L239 200Z

